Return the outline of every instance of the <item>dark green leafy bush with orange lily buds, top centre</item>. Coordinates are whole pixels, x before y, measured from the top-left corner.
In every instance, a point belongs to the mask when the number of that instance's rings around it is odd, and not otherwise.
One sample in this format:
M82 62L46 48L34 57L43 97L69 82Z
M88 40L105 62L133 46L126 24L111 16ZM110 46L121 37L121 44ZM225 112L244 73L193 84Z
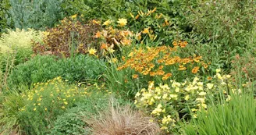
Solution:
M141 40L141 43L155 41L155 44L171 45L172 41L181 38L177 21L158 10L157 8L148 9L148 12L145 12L146 9L140 10L135 14L136 16L130 13L128 25L130 30L137 32L137 41Z

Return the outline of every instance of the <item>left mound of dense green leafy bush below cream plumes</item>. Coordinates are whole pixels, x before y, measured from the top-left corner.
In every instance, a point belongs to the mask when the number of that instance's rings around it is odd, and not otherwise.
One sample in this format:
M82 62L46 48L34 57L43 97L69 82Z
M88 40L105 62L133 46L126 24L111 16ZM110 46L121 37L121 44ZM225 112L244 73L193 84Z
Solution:
M59 76L59 65L52 56L36 56L16 66L8 77L9 87L51 80Z

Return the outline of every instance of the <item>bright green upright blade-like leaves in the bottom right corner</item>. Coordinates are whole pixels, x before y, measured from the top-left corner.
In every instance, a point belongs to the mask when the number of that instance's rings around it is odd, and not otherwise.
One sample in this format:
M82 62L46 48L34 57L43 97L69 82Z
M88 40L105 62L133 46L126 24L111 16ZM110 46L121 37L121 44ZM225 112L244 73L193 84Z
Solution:
M249 89L254 89L253 87ZM242 91L248 91L242 89ZM256 133L256 101L251 93L232 94L230 101L219 99L207 112L197 112L197 118L184 124L179 134L250 134Z

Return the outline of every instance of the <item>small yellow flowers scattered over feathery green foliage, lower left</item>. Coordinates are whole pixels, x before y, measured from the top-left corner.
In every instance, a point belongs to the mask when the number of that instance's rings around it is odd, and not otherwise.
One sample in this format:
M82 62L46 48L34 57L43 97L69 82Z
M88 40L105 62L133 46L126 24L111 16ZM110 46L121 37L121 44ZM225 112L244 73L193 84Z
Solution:
M69 104L72 105L77 97L88 94L85 90L79 90L74 85L69 86L62 81L61 77L56 77L46 83L34 83L34 89L26 91L22 97L30 103L27 106L30 106L29 108L33 111L41 109L47 112L55 107L65 109ZM20 111L26 110L27 106L21 108Z

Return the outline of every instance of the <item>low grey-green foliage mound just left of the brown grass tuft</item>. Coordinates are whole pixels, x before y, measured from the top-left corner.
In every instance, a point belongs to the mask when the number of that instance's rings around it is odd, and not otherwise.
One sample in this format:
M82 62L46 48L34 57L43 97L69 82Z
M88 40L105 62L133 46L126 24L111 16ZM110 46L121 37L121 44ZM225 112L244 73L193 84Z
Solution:
M91 96L84 98L80 103L76 103L76 107L70 108L63 115L59 115L50 134L90 134L85 127L87 124L81 118L86 116L85 113L96 116L98 112L106 108L108 108L108 96L101 92L93 92Z

